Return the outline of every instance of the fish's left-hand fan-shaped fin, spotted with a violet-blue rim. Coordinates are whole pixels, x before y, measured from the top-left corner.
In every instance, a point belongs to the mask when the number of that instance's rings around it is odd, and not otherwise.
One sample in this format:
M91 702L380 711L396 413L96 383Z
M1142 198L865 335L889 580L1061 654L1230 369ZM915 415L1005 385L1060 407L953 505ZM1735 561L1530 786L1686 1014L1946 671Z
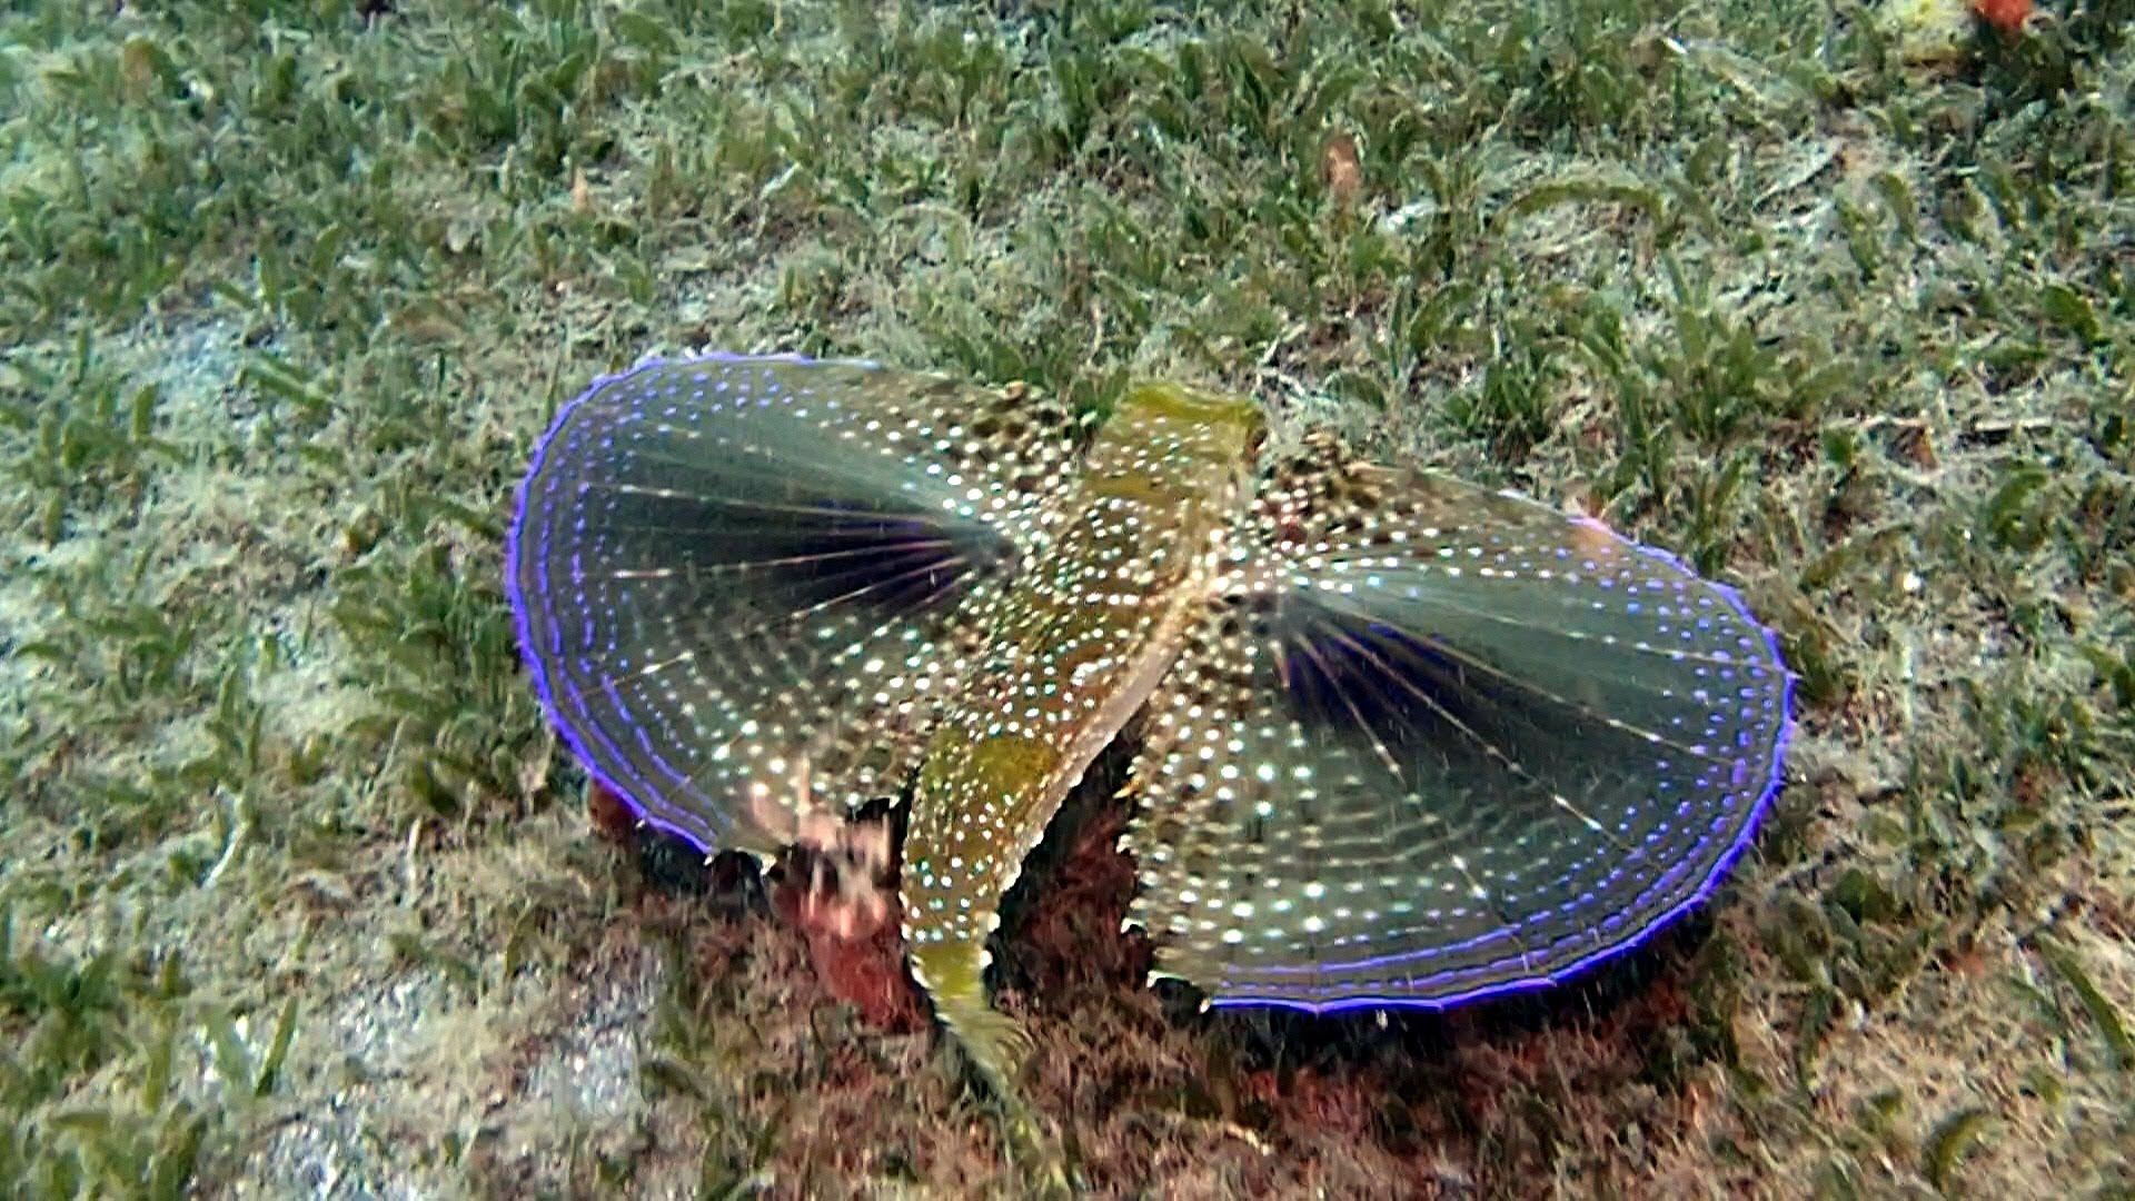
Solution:
M647 363L566 406L506 551L549 714L647 821L777 851L910 778L1061 408L869 363Z

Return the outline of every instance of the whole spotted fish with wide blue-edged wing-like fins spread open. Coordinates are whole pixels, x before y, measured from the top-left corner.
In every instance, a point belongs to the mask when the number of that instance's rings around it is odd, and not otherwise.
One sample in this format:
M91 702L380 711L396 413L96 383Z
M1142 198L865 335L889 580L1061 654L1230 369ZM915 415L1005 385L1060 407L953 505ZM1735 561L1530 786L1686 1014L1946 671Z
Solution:
M850 818L907 806L880 904L1003 1105L1001 898L1129 729L1153 974L1337 1013L1638 947L1753 842L1793 722L1774 633L1676 556L1176 383L1100 421L856 359L647 361L555 415L504 566L549 720L645 825L882 865Z

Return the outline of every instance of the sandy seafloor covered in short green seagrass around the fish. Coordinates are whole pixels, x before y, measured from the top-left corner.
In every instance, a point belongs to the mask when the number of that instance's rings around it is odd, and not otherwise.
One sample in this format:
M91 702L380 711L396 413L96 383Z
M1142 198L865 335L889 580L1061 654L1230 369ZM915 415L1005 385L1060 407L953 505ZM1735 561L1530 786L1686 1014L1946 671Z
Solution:
M1095 782L999 998L1095 1195L2131 1195L2135 9L1986 9L11 4L0 1192L1025 1188L519 669L532 440L728 346L1247 391L1802 675L1699 919L1454 1015L1140 987Z

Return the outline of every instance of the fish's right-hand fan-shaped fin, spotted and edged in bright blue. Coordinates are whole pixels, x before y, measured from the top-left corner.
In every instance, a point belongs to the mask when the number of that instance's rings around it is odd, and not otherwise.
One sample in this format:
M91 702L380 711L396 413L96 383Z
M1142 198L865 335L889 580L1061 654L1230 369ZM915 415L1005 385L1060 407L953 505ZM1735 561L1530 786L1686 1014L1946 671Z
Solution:
M1324 457L1238 541L1134 765L1159 970L1219 1004L1454 1004L1638 942L1751 838L1791 677L1731 590Z

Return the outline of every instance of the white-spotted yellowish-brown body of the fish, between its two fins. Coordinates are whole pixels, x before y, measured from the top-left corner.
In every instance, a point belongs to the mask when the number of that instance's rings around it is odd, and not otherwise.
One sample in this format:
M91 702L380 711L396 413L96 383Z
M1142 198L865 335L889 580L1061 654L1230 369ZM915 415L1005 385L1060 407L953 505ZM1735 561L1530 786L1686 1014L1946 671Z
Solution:
M1001 895L1206 609L1260 438L1253 404L1129 391L1080 479L1040 515L1044 551L991 605L984 650L927 746L905 833L905 942L942 1021L997 1088L1016 1039L982 983Z

